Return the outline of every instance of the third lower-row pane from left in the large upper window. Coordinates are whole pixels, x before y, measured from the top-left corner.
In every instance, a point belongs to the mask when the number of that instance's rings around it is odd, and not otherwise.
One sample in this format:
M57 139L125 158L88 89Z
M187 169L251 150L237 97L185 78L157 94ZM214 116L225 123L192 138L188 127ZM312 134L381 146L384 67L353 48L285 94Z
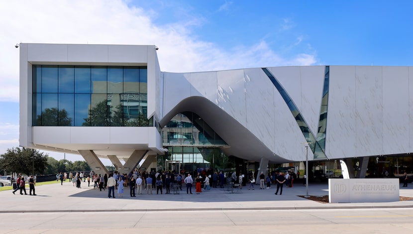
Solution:
M75 117L75 95L59 94L59 126L74 126Z

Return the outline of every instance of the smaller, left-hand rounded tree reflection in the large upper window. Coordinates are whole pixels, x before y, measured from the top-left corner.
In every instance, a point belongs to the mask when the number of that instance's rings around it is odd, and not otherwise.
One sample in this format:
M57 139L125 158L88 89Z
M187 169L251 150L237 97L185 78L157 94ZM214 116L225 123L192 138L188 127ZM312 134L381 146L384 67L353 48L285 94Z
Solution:
M43 124L42 124L43 122ZM72 118L65 109L58 111L57 108L46 108L36 118L37 126L71 126Z

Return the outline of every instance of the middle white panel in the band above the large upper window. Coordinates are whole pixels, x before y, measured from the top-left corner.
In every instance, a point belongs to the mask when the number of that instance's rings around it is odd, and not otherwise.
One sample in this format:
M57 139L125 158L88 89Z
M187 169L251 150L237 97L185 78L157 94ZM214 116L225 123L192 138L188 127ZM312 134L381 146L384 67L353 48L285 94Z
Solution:
M107 45L68 45L68 62L108 62Z

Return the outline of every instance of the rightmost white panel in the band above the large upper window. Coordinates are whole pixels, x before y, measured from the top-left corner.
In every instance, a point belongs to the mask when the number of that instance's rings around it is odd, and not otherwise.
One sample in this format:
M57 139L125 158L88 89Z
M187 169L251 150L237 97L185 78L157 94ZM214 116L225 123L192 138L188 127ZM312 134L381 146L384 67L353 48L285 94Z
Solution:
M109 63L147 63L148 46L108 45Z

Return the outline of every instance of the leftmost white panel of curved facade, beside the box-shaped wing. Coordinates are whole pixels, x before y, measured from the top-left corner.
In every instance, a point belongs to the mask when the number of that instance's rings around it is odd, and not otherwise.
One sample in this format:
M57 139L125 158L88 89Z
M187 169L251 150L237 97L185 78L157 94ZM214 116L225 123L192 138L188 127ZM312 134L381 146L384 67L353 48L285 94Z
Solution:
M190 77L189 73L165 73L164 114L169 113L178 103L190 97Z

